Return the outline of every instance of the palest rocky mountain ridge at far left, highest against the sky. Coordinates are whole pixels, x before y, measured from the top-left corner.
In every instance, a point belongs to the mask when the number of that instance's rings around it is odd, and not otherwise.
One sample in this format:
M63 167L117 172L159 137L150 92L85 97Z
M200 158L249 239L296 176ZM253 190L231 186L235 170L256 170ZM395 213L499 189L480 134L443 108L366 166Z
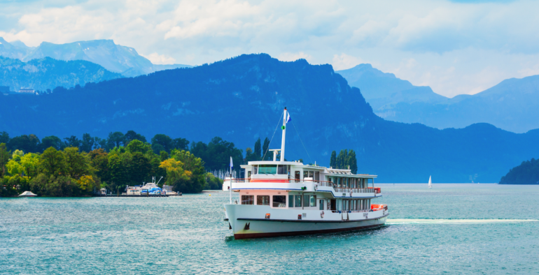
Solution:
M145 75L171 68L188 68L189 65L152 64L132 47L116 45L113 40L88 40L73 43L54 44L43 42L38 47L27 47L20 41L8 43L0 37L0 56L21 61L51 57L63 61L85 60L99 64L113 73L125 77Z

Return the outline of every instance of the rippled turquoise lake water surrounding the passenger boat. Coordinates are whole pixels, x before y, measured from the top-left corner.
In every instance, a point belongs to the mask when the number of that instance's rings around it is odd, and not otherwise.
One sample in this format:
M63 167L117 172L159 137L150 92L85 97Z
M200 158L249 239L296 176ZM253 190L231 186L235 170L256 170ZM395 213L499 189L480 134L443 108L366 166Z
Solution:
M247 240L223 221L228 193L1 198L0 273L539 272L539 186L379 186L384 228Z

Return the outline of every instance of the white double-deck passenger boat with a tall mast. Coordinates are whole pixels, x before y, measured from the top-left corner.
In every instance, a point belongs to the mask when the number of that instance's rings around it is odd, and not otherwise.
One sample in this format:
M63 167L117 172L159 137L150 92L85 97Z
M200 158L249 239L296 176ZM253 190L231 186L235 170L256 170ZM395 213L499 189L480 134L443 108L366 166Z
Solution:
M386 223L386 205L371 205L380 198L372 174L284 161L284 109L281 149L273 161L241 165L246 179L232 179L240 201L225 205L235 239L307 235L377 228ZM277 154L280 151L280 161ZM232 198L232 195L231 195Z

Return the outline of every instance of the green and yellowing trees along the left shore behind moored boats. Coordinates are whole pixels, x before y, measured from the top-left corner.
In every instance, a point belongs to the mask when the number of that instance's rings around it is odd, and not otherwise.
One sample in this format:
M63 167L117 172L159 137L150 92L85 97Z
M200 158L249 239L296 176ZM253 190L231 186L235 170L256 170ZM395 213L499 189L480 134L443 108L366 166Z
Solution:
M189 146L190 145L190 146ZM45 196L90 195L99 188L123 191L164 177L174 191L198 193L220 189L223 181L207 170L228 170L230 156L235 168L243 161L243 151L221 137L209 143L188 142L158 134L151 142L134 131L114 132L100 139L83 134L36 135L10 138L0 133L1 195L32 191Z

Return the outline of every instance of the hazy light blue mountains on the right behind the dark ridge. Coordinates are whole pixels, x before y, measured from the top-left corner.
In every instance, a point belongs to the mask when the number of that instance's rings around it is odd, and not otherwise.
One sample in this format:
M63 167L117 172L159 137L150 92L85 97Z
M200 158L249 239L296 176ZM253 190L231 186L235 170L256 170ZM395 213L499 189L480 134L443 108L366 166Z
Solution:
M446 98L370 64L337 71L361 89L374 113L384 119L435 128L464 128L485 122L515 133L539 128L539 75L503 80L474 95Z

